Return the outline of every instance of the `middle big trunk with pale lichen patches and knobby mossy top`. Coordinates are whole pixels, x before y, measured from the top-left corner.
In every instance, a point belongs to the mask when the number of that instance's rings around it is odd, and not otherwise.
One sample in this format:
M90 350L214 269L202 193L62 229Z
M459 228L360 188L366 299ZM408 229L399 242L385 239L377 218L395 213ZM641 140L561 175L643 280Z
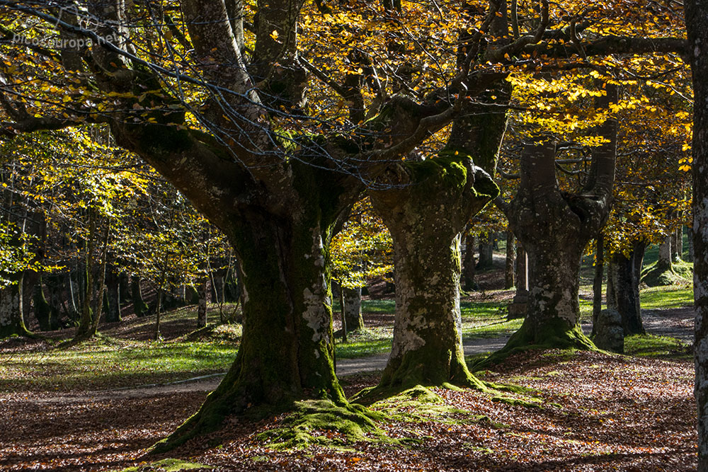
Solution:
M391 231L396 281L393 347L379 386L472 386L462 352L460 233L498 188L453 153L401 163L388 178L393 188L370 192Z

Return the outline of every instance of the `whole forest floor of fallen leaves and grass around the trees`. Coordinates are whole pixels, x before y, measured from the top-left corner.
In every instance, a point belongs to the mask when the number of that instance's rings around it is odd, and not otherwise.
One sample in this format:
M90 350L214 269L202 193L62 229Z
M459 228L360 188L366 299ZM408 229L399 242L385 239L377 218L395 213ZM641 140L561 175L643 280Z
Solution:
M437 388L440 403L435 408L421 405L411 410L402 401L373 405L389 415L379 423L385 436L415 439L406 445L370 436L370 441L338 447L277 449L257 437L280 425L282 416L276 416L255 424L227 420L224 429L210 437L164 456L146 456L147 449L192 415L215 387L220 377L214 374L235 352L229 337L238 338L239 333L227 330L209 343L192 343L185 333L193 329L193 320L175 316L166 317L164 326L164 335L174 343L149 344L149 349L120 340L149 338L149 326L139 321L105 326L112 338L71 352L36 341L5 341L0 343L0 470L695 470L692 349L682 342L690 343L692 313L684 292L646 292L645 326L663 337L628 338L627 355L527 352L510 357L493 372L477 373L485 381L530 389L523 394ZM509 295L489 289L464 300L463 317L465 304L483 316L477 324L467 319L469 354L495 349L518 326L496 313L495 304ZM391 304L371 306L365 313L367 326L375 333L389 333ZM362 349L379 352L379 347ZM153 351L163 357L151 357ZM370 356L346 358L356 352L342 350L344 357L338 361L348 395L377 384L380 376L380 371L343 372L341 367L355 362L365 364L357 370L372 368ZM166 357L173 363L158 366L163 361L156 359ZM23 369L22 362L40 367ZM73 365L71 375L67 364ZM146 372L125 375L131 369ZM160 369L179 372L166 376ZM195 375L206 377L168 383ZM327 442L341 439L338 432L314 434Z

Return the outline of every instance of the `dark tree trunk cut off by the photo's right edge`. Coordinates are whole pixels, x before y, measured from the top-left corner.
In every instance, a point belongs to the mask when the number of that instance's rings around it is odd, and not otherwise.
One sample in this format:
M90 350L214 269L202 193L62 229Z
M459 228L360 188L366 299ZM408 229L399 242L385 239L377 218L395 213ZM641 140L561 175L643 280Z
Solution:
M708 471L708 8L686 0L685 18L693 74L693 294L695 299L695 397L698 471Z

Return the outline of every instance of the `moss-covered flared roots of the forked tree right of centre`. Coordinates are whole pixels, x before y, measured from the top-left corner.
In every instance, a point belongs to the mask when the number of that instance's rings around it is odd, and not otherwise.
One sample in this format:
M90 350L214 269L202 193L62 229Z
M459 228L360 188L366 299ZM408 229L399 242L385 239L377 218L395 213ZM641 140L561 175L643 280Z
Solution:
M580 325L567 328L562 320L558 323L545 323L542 329L534 329L528 318L524 321L519 330L511 335L506 345L500 350L493 352L486 359L482 359L471 366L472 372L489 369L489 367L500 364L511 355L524 352L529 349L578 349L597 351L593 341L583 334Z

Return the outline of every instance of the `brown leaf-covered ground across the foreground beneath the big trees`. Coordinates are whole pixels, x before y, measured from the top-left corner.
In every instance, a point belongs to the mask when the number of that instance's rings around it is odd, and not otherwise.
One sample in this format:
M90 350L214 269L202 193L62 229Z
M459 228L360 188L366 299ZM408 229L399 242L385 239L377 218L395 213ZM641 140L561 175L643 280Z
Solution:
M565 357L564 357L565 356ZM438 390L445 401L489 420L457 424L392 421L392 437L426 437L415 447L354 444L272 451L255 441L278 418L227 422L218 435L169 456L223 471L684 471L695 468L692 365L593 352L532 353L486 379L539 391L542 408L490 401L475 391ZM348 393L376 376L348 379ZM187 418L205 392L43 401L52 393L3 394L0 468L98 471L141 461L144 450ZM325 433L326 434L326 433ZM207 445L212 443L212 447ZM213 447L217 445L217 447ZM159 459L159 458L157 458Z

